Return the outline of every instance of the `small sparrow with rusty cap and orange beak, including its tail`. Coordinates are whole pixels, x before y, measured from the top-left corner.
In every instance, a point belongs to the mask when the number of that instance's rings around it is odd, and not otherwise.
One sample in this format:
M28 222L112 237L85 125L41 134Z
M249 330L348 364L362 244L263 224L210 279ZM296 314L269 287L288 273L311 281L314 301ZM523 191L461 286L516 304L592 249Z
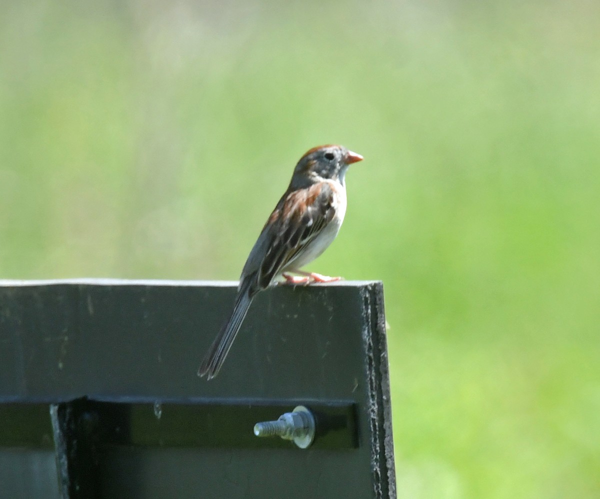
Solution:
M322 254L337 236L346 214L346 170L361 160L360 154L335 145L310 149L300 158L286 193L250 251L233 311L206 353L199 376L211 379L218 374L252 299L275 278L283 276L290 284L340 279L300 269Z

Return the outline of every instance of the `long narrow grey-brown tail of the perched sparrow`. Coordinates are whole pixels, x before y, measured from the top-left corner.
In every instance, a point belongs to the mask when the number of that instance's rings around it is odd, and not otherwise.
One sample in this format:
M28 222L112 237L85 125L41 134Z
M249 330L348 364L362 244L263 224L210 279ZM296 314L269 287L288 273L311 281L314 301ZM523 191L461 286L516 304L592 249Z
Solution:
M198 375L204 376L206 375L206 379L210 380L214 378L223 362L225 361L225 357L229 353L229 349L233 344L233 340L238 334L239 327L242 325L242 321L246 314L248 313L248 308L250 308L250 304L252 303L253 294L250 294L250 284L251 279L245 279L242 282L242 286L238 291L238 296L235 299L235 305L233 306L233 312L229 320L221 327L220 332L215 338L215 341L212 342L211 348L209 348L204 360L202 361L202 365L198 369Z

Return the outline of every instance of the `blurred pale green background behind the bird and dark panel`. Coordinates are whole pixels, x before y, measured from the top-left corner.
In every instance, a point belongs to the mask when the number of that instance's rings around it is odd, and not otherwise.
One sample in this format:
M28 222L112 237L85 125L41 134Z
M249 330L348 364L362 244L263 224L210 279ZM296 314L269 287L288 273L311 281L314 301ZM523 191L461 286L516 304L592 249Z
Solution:
M0 5L0 277L236 279L310 147L401 498L600 497L600 4Z

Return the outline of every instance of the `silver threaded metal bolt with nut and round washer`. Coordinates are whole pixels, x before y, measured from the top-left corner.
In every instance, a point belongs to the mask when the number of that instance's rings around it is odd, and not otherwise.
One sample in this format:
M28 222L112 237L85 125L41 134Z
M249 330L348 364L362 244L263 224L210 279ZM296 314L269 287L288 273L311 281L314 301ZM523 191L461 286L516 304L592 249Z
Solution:
M304 405L293 412L281 414L277 421L264 421L254 425L257 437L281 437L293 440L301 449L306 449L314 440L314 416Z

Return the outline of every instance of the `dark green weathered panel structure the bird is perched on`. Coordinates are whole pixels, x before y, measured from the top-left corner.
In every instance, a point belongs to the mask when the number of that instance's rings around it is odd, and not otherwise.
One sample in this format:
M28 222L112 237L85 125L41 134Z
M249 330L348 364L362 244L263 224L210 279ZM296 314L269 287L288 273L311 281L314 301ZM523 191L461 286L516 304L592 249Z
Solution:
M234 294L0 281L0 498L395 497L382 284L260 293L206 381ZM253 435L299 404L308 449Z

